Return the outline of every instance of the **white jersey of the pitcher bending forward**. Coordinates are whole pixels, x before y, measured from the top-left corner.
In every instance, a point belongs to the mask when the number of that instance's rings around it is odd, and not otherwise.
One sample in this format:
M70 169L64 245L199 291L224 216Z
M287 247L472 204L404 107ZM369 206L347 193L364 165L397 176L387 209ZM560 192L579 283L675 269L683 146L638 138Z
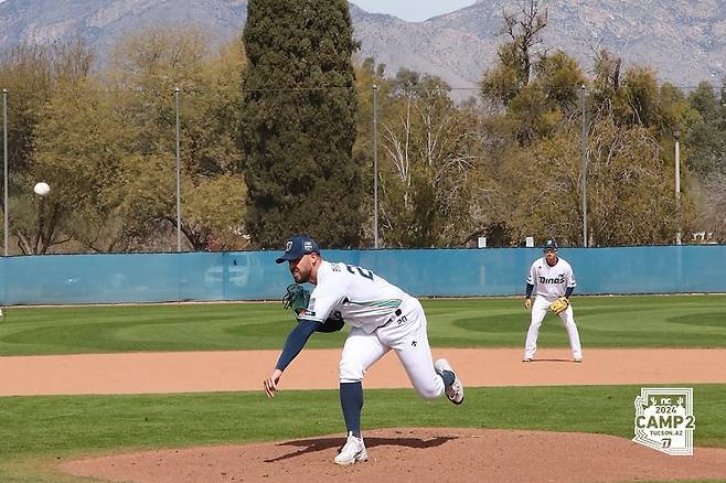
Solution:
M345 322L373 333L409 298L366 268L322 260L318 285L300 319L324 322L331 313L340 312Z

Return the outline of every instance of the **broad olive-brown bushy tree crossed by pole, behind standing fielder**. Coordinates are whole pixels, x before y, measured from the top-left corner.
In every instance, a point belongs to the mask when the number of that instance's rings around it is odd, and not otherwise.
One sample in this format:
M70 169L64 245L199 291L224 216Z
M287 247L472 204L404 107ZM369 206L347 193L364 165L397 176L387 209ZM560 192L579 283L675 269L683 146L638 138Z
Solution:
M522 167L526 165L522 175ZM514 239L525 235L557 237L563 244L583 239L581 158L577 126L559 130L529 148L517 148L508 161ZM670 244L679 222L691 226L692 205L681 198L679 215L673 195L673 168L658 139L642 126L617 126L599 119L588 141L588 245Z

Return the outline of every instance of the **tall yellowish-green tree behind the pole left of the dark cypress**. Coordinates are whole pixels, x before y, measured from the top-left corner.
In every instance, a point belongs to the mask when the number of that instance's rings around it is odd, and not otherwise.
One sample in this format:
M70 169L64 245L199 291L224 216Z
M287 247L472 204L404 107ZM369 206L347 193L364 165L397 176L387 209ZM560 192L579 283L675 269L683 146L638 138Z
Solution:
M164 236L177 229L174 89L184 103L189 93L204 86L206 49L207 39L199 29L177 26L130 32L111 50L103 75L132 140L110 193L116 217L122 221L122 250L175 247L172 237ZM186 121L191 112L183 106L181 119ZM182 133L182 139L189 137ZM185 146L181 148L181 178L188 180L197 172L196 163ZM183 226L180 230L186 233ZM188 242L193 249L203 249L196 238Z

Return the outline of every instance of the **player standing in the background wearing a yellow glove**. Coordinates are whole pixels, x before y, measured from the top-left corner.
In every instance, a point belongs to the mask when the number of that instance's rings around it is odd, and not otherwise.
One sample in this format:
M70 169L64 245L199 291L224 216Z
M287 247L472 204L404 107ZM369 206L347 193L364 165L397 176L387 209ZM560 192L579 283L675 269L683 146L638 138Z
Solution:
M542 325L547 310L551 310L565 324L569 346L573 350L573 358L576 363L580 363L583 362L583 347L579 344L579 333L577 332L577 325L575 325L573 305L569 303L569 297L577 286L573 267L557 256L557 244L554 239L548 239L543 249L544 257L532 264L527 276L524 307L532 309L532 322L527 331L522 361L530 362L534 358L534 354L537 352L540 325ZM534 305L532 304L533 291L537 294L534 299Z

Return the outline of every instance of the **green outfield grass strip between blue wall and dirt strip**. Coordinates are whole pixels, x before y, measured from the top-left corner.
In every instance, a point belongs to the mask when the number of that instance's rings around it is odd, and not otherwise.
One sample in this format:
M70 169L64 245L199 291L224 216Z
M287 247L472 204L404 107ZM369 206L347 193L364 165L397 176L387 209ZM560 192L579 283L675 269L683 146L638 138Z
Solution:
M520 347L530 324L522 299L425 300L436 347ZM576 297L586 347L724 347L726 296ZM0 355L280 348L293 324L279 303L10 308ZM308 347L341 347L345 330ZM547 315L540 345L566 346Z

